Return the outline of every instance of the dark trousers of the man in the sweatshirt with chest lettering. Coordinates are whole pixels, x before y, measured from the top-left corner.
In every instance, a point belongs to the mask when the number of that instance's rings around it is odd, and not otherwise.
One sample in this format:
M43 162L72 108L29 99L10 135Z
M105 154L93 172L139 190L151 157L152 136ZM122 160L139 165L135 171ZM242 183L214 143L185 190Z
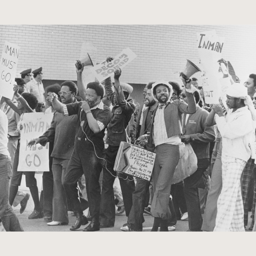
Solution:
M191 231L193 229L200 230L202 227L198 184L209 163L209 158L197 159L197 170L184 180L184 194L188 208L188 224Z

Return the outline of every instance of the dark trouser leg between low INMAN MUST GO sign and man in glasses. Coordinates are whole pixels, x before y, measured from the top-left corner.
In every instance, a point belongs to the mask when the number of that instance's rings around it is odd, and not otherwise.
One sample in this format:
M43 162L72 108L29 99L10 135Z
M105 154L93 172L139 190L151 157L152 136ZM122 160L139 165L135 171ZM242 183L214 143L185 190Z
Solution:
M43 214L44 216L53 215L53 142L49 143L49 171L43 172Z

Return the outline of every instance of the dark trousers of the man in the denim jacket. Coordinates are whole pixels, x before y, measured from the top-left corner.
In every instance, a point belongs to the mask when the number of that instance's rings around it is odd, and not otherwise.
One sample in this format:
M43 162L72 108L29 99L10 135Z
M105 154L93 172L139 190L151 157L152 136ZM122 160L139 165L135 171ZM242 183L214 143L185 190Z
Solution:
M103 161L103 180L101 190L101 205L100 205L100 224L101 226L114 227L115 224L115 200L113 184L115 181L116 172L113 170L119 146L111 146L105 150ZM107 169L106 169L107 168ZM114 175L111 175L109 171ZM128 217L132 207L132 193L135 191L134 180L127 175L120 173L120 186L122 190L125 213Z

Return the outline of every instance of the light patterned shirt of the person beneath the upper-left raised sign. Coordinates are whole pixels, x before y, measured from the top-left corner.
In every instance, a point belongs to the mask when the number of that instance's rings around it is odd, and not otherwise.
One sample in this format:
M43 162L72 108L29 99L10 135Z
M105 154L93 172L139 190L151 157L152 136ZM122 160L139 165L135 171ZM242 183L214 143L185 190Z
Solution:
M18 103L12 101L16 106ZM20 136L20 133L17 132L17 123L19 122L20 115L16 113L6 102L2 104L1 110L8 118L8 135L10 136Z

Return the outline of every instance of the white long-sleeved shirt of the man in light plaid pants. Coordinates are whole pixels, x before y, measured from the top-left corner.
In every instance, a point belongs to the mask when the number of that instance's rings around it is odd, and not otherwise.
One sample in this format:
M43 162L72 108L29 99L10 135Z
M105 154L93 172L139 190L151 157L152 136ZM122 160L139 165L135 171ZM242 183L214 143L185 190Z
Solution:
M216 116L216 124L222 136L222 154L248 161L253 143L253 122L248 106L228 109L227 116Z

